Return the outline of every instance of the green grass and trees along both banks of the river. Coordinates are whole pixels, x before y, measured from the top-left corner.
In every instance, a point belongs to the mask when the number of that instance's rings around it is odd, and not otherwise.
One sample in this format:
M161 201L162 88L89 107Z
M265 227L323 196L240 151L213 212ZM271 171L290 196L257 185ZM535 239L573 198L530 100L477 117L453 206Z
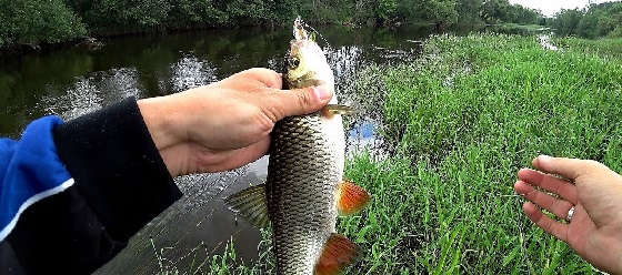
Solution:
M299 14L310 24L516 33L434 34L413 62L360 72L354 86L382 110L381 132L395 150L347 161L345 176L372 195L338 222L361 252L348 274L599 273L533 226L512 185L539 154L622 172L620 1L544 18L508 0L0 0L0 55L89 37L289 26ZM531 35L542 28L560 34L550 40L560 50ZM153 245L154 261L160 274L272 274L270 240L262 230L252 262L237 256L233 240L222 254L193 249L184 266Z

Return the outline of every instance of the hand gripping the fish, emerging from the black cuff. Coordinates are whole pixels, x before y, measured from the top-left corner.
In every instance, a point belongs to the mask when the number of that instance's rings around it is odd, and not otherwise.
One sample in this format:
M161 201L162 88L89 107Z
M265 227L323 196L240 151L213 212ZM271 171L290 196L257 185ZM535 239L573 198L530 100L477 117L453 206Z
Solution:
M280 90L281 75L250 69L207 86L138 101L172 176L232 170L268 152L274 123L319 111L332 88Z

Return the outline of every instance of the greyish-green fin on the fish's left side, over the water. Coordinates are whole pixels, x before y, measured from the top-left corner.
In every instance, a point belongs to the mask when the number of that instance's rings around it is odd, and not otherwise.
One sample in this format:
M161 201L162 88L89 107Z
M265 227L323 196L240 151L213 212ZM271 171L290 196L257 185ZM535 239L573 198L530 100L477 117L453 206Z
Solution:
M270 223L265 201L265 184L242 190L224 198L224 204L254 226L265 227Z

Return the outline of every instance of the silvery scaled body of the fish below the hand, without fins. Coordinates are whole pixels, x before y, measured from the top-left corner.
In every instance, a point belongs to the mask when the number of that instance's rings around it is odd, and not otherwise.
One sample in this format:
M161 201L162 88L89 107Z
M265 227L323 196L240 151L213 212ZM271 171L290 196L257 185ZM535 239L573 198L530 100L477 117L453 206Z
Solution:
M341 118L333 119L341 125ZM312 274L335 232L344 136L342 129L327 133L328 124L333 123L313 113L287 118L272 132L265 194L278 274Z

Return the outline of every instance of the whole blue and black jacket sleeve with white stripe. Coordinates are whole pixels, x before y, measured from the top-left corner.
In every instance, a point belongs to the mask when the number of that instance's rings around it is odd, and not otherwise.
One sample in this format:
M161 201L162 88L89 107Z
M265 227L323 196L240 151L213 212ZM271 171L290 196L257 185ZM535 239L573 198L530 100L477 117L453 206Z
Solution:
M0 274L92 273L182 195L134 99L0 141Z

